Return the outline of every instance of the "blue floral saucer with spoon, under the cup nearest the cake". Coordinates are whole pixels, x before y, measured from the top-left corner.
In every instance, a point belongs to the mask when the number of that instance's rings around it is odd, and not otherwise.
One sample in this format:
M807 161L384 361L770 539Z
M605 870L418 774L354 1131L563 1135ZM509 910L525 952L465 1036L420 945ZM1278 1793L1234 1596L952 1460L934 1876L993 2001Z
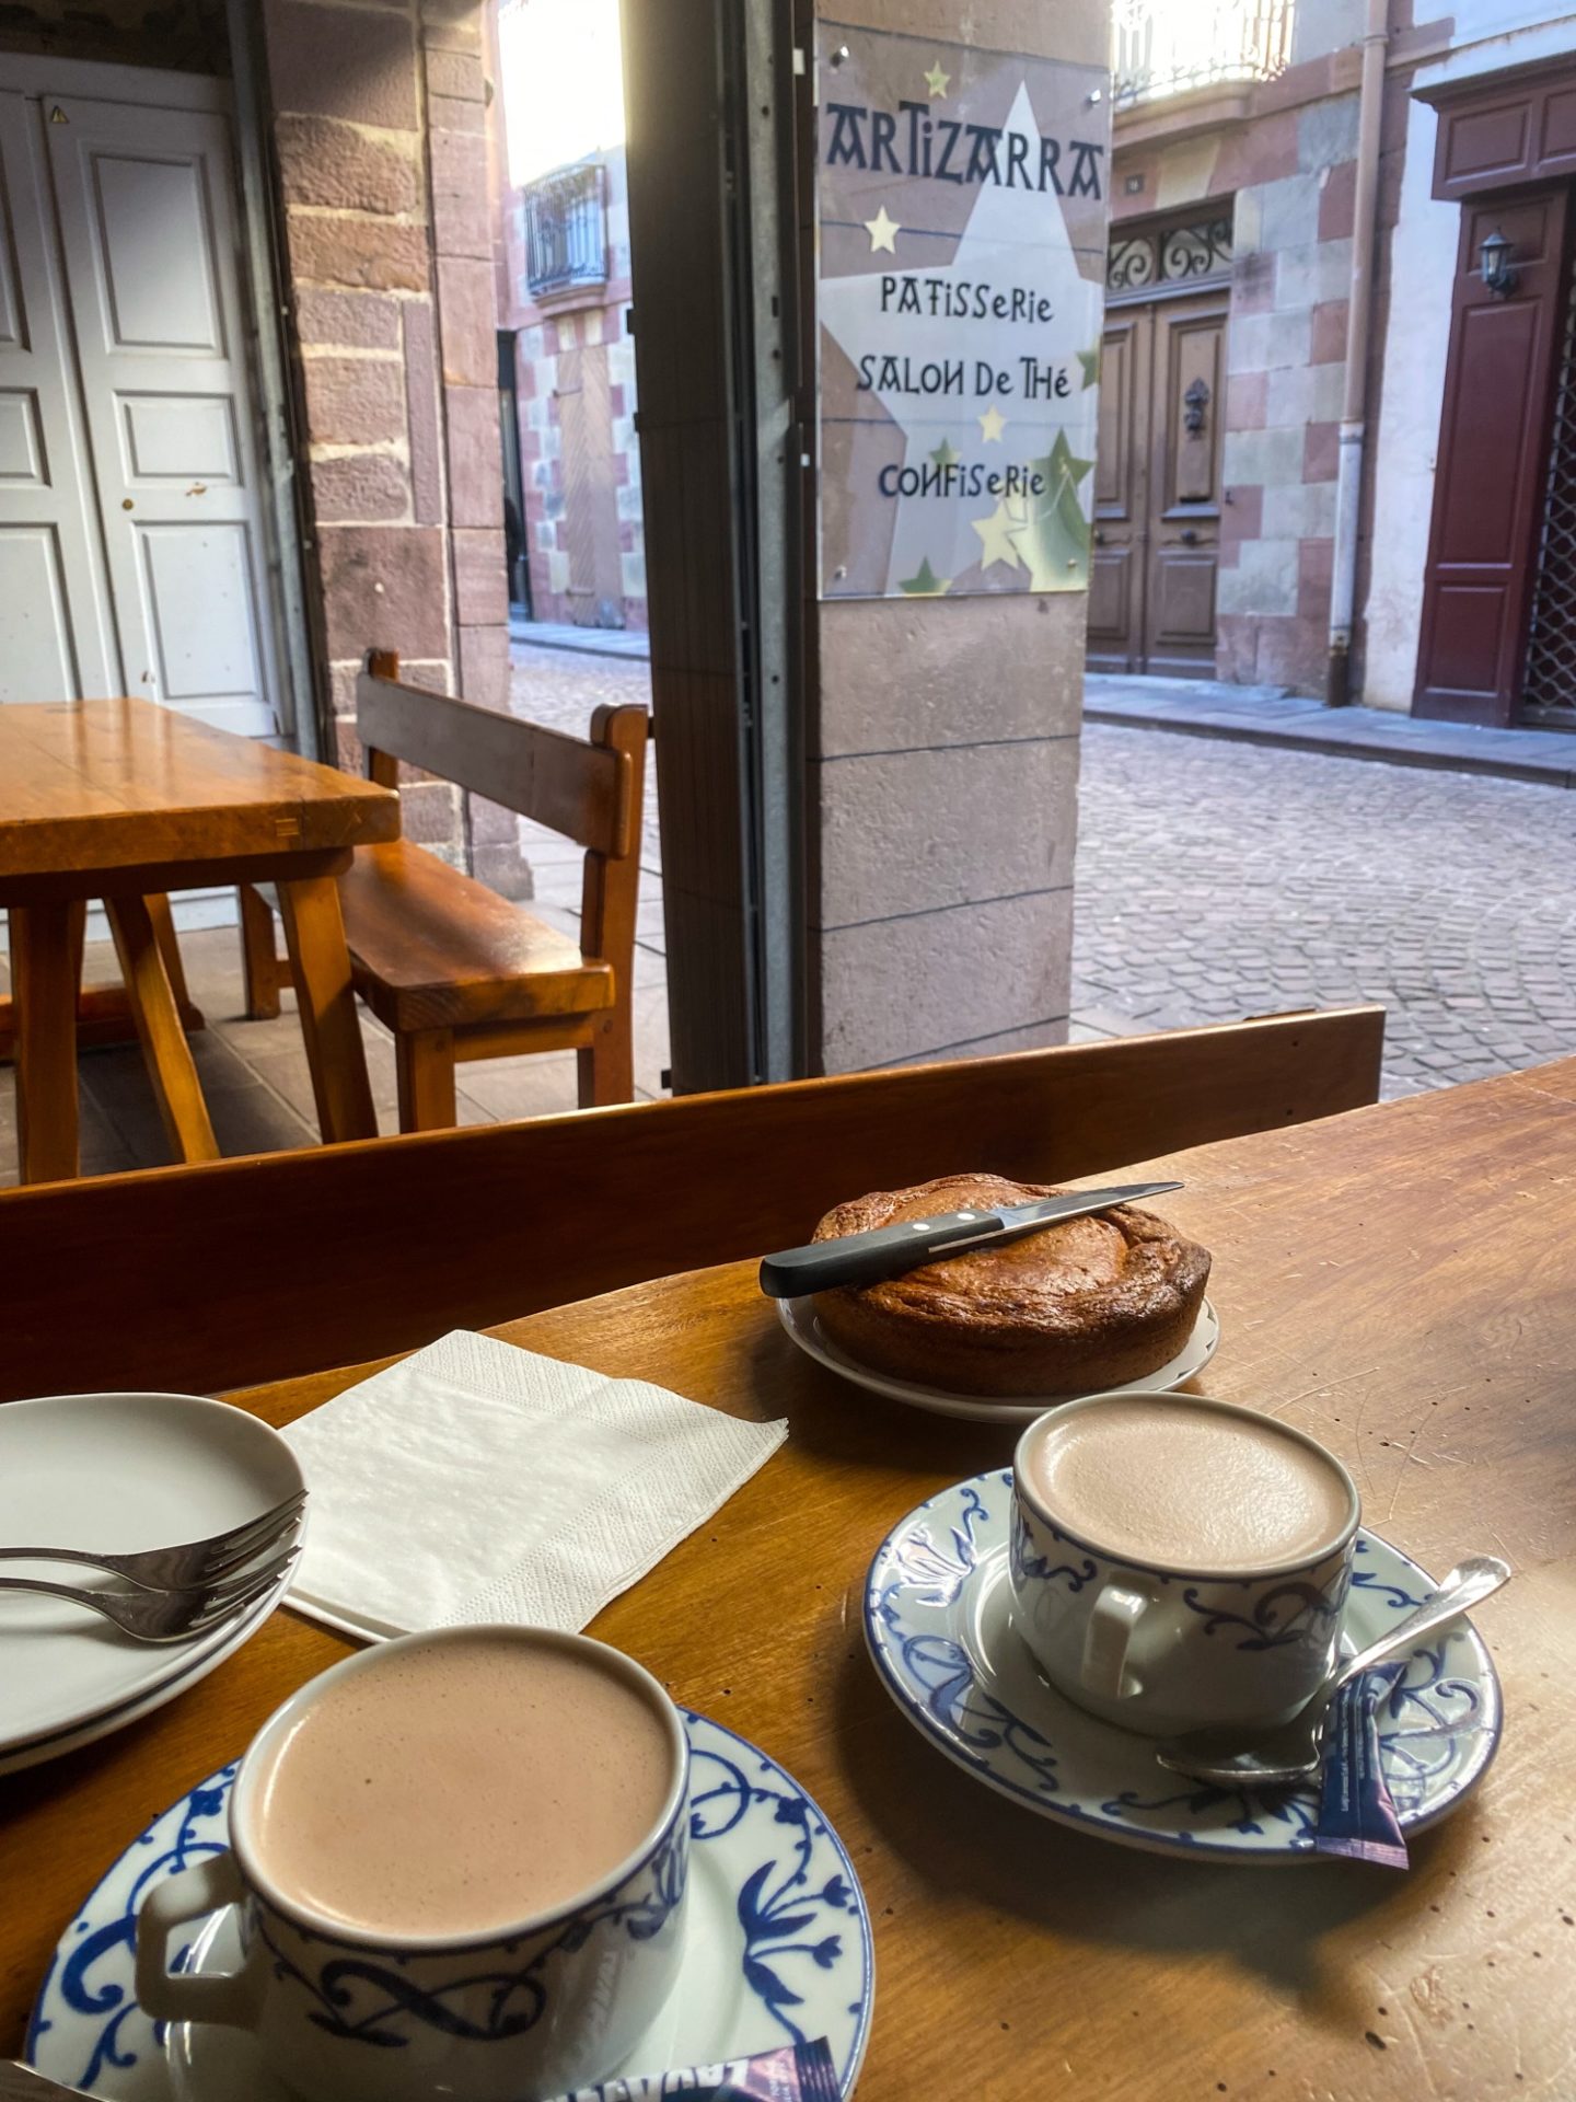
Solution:
M1183 1782L1149 1738L1084 1715L1046 1682L1011 1625L1009 1469L931 1497L880 1543L864 1629L887 1692L958 1766L1040 1816L1154 1854L1229 1862L1313 1854L1318 1795ZM1357 1534L1343 1640L1376 1642L1433 1581L1389 1541ZM1500 1684L1467 1621L1418 1644L1378 1711L1378 1745L1408 1833L1448 1816L1500 1740Z

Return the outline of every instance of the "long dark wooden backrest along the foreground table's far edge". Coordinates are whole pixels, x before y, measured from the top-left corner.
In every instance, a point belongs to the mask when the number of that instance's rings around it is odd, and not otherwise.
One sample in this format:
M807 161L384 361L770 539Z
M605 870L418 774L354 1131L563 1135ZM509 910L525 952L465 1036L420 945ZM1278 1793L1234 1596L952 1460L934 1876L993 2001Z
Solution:
M790 1246L864 1190L1059 1181L1332 1116L1378 1097L1383 1032L1378 1007L1271 1015L4 1190L0 1398L359 1364Z

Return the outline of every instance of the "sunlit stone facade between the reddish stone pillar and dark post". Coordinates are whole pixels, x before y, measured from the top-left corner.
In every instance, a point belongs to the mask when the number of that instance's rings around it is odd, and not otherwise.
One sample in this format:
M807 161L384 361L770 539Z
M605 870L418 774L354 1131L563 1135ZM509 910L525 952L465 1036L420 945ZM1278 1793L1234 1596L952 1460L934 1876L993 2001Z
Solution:
M641 446L635 435L635 343L628 332L628 164L605 156L607 284L534 301L525 275L525 191L498 198L498 326L515 330L515 393L519 399L519 465L525 488L525 549L536 620L580 620L645 628L645 530L641 521ZM607 362L609 429L597 458L574 462L563 452L559 357L601 351ZM607 502L616 515L618 593L588 605L569 597L569 509Z

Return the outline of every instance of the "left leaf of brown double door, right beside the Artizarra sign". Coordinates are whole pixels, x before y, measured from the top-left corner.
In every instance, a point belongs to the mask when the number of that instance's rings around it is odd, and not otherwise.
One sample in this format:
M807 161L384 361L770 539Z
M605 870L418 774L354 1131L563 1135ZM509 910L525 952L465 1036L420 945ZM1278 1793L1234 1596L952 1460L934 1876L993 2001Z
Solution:
M1137 671L1143 647L1143 528L1149 479L1152 313L1110 317L1099 366L1088 664Z

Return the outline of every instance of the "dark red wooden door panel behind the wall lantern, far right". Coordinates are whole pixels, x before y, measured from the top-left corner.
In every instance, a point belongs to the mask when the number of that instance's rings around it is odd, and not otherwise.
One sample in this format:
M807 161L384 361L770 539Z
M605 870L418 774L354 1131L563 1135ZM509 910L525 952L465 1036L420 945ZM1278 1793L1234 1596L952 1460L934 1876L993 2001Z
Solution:
M1565 189L1463 204L1450 364L1423 586L1416 715L1509 723L1528 643L1542 507ZM1509 296L1479 275L1500 231L1517 273Z

